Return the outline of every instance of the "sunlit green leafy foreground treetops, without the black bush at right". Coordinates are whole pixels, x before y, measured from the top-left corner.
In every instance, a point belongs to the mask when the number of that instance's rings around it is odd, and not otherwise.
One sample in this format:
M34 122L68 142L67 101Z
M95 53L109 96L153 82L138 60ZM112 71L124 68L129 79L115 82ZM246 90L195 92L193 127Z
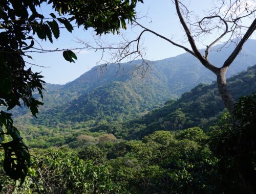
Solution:
M218 193L219 160L206 146L208 140L200 128L190 128L132 141L105 136L76 151L33 149L22 187L2 177L3 192Z

